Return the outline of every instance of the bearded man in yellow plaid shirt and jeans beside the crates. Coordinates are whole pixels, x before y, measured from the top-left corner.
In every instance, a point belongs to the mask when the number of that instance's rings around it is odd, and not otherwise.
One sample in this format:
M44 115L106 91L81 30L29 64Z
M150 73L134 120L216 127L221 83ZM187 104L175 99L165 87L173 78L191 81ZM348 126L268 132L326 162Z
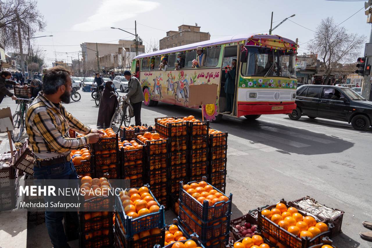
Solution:
M70 71L61 66L49 69L44 76L43 90L33 101L26 113L26 131L30 147L35 157L33 176L36 186L49 186L57 183L65 189L78 189L77 173L70 158L70 152L80 149L88 143L99 140L99 130L92 130L73 115L67 112L62 102L70 102L71 78ZM70 138L69 127L83 136ZM52 179L44 181L44 179ZM65 180L55 180L65 179ZM62 190L57 189L56 192ZM65 196L44 195L45 203L64 202ZM49 204L51 205L51 204ZM74 222L78 224L77 209L69 208ZM45 211L45 225L49 238L55 248L70 247L67 244L62 219L65 212L50 211L50 206Z

